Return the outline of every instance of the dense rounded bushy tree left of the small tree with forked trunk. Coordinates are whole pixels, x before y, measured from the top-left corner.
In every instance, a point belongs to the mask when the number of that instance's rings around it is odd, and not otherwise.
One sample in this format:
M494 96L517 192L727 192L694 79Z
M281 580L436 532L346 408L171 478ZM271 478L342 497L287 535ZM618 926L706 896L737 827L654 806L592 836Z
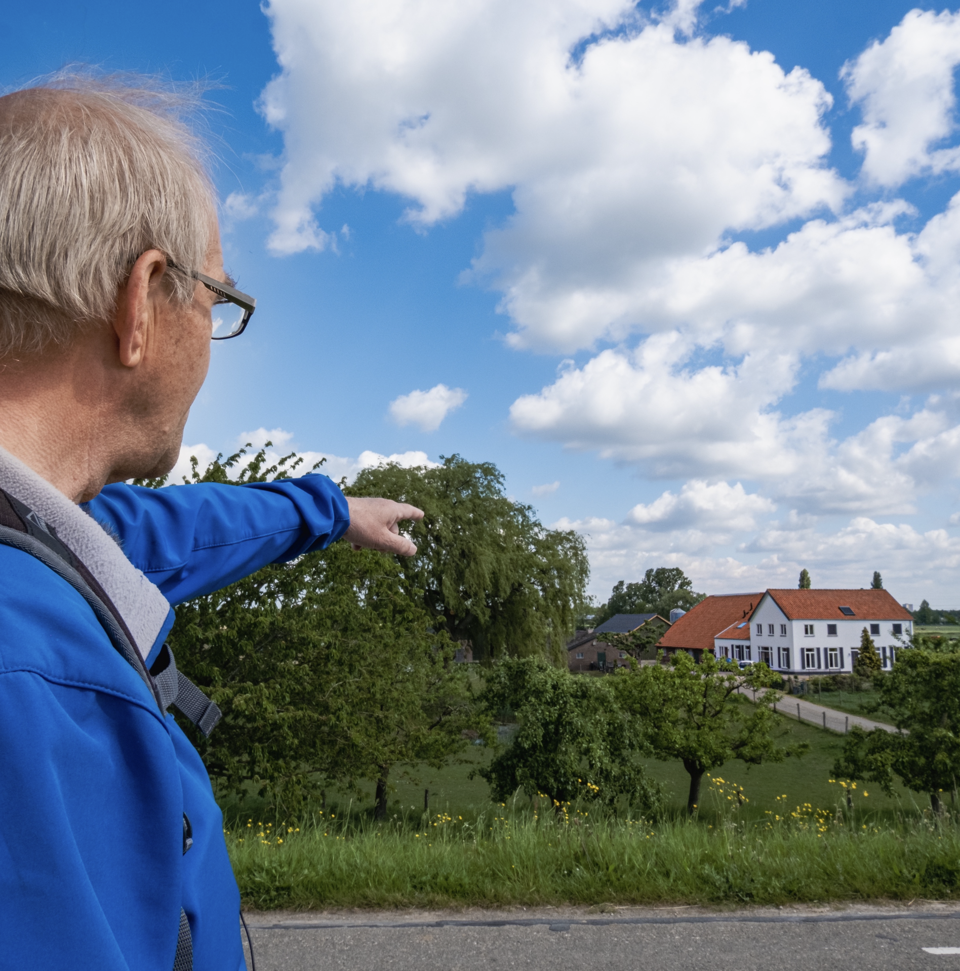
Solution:
M493 716L513 711L517 729L477 770L493 798L505 800L521 788L559 808L577 798L610 804L625 795L633 806L655 809L659 787L638 761L648 747L636 723L618 710L612 680L576 678L533 657L496 663L482 699Z

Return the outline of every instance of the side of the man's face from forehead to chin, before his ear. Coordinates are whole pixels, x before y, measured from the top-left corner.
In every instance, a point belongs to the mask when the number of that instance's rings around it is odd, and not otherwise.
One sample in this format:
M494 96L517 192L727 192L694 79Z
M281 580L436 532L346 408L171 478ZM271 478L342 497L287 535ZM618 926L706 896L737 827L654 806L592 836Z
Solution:
M200 271L215 280L226 279L217 230ZM190 406L210 367L215 293L198 283L193 300L180 304L163 299L165 286L162 279L156 283L144 371L138 382L138 405L145 419L138 437L148 452L145 464L150 465L138 476L162 476L176 464Z

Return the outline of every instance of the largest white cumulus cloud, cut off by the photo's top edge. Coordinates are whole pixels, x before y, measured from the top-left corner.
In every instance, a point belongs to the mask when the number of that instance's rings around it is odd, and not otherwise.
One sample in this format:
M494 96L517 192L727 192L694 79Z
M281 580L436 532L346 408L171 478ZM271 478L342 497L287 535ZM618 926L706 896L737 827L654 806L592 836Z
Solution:
M424 225L513 189L474 273L504 291L515 342L629 329L629 294L672 261L844 198L823 85L729 38L682 39L697 6L642 23L627 0L272 0L273 248L325 246L314 206L338 183L397 192Z

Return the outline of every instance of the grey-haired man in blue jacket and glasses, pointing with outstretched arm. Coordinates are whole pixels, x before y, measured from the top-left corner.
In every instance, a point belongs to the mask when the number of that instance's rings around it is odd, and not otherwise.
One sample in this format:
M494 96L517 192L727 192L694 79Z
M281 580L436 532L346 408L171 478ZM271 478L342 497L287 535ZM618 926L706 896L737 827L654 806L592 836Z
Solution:
M0 98L0 967L244 967L209 731L171 604L346 537L410 554L419 510L325 476L123 485L176 461L223 270L202 151L162 93ZM111 485L114 484L114 485Z

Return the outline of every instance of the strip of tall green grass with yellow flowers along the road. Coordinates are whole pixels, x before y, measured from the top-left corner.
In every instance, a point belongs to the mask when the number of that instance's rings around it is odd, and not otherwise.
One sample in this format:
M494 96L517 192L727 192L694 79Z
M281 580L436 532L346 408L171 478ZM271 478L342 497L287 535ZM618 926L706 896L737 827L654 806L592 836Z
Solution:
M725 797L724 797L725 798ZM710 821L712 820L712 821ZM960 826L814 810L739 821L602 818L569 806L375 823L241 822L227 845L245 906L782 904L960 895Z

